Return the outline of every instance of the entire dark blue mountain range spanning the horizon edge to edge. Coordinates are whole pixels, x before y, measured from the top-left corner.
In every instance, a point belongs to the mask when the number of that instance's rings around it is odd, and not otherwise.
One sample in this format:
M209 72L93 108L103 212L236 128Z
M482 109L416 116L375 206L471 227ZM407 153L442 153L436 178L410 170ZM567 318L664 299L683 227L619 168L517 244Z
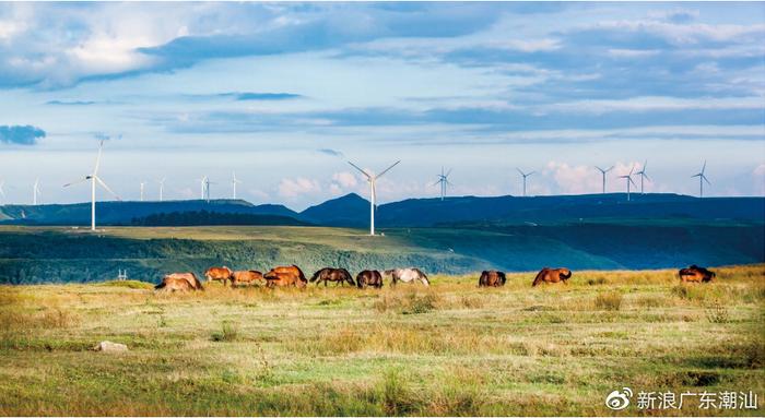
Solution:
M254 205L243 200L170 202L98 202L101 225L131 225L133 219L169 213L205 211L211 225L222 225L214 214L275 215L322 226L361 228L369 223L369 202L351 193L296 213L282 205ZM765 198L693 198L669 193L624 193L554 196L459 196L408 199L379 205L380 228L431 226L519 225L597 219L732 219L762 223ZM87 225L89 203L67 205L0 206L0 223L34 225ZM196 224L195 224L196 225Z

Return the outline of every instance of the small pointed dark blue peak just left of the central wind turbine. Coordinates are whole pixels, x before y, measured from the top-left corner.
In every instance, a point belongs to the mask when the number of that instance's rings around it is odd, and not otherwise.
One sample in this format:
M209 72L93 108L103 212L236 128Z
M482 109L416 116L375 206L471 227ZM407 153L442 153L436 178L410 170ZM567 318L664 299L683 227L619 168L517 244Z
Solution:
M357 227L369 222L369 201L356 193L310 206L301 212L303 219L325 226Z

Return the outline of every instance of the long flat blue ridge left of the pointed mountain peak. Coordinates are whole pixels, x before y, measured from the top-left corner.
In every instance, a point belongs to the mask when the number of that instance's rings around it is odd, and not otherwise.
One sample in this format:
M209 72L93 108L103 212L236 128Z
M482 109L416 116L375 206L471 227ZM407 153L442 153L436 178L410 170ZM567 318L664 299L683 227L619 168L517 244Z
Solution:
M174 212L213 212L221 214L276 215L298 218L282 205L254 205L243 200L203 200L165 202L97 202L101 225L130 225L136 218ZM25 225L89 225L91 204L4 205L0 206L0 223Z

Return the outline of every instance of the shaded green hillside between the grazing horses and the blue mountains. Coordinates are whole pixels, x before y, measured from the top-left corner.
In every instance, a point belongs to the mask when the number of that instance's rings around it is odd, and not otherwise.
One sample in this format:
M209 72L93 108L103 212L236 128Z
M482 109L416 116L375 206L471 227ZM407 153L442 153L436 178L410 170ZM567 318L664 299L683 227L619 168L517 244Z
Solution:
M765 261L763 224L704 222L556 223L460 228L390 228L385 236L328 227L0 227L0 283L156 282L211 265L268 270L419 266L428 273L676 267Z

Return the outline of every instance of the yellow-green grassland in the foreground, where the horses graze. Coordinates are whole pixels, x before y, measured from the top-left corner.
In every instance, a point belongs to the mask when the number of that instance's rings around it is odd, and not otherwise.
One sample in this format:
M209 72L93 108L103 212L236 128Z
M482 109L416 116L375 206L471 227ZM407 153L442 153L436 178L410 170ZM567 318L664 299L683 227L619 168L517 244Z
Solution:
M765 265L510 274L358 290L155 294L140 282L0 287L1 415L763 415L621 413L615 389L765 397ZM91 350L101 341L127 353ZM633 399L634 402L634 399Z

